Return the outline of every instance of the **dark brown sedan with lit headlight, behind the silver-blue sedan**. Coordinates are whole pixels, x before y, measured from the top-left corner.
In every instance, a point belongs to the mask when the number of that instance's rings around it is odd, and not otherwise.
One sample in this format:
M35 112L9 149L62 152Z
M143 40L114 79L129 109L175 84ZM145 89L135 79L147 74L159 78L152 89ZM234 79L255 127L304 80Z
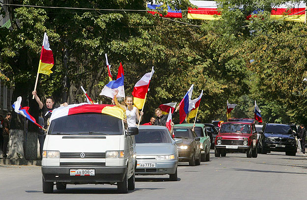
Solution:
M174 138L182 139L178 144L179 162L189 162L190 166L200 165L200 138L186 127L174 127Z

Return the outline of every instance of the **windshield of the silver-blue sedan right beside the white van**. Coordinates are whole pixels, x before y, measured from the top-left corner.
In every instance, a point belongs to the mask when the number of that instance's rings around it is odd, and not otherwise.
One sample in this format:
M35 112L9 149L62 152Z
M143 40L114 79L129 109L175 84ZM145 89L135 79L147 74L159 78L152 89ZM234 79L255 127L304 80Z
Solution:
M167 130L140 129L135 139L136 143L171 143Z

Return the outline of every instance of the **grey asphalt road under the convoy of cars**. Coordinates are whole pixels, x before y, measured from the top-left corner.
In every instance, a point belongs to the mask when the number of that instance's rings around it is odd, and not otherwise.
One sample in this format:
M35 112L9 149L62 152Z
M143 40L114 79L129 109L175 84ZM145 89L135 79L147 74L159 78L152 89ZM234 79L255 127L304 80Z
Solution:
M37 166L0 166L1 200L294 200L307 195L307 156L273 152L246 158L227 154L190 167L180 163L178 181L165 176L137 176L136 189L116 194L116 186L68 185L64 191L43 194Z

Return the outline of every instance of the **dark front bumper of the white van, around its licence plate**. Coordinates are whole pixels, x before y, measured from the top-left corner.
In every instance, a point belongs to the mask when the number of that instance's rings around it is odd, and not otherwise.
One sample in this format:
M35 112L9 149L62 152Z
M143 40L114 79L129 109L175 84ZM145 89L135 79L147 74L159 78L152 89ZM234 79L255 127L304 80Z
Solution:
M94 169L94 176L71 176L71 169ZM65 182L66 184L100 184L122 182L127 167L42 167L46 182Z

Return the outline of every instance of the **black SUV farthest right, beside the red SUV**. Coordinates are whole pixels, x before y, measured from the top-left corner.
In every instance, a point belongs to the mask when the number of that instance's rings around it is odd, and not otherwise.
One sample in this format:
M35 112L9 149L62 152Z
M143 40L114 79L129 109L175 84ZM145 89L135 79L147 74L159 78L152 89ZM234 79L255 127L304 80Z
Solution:
M279 151L295 156L297 148L293 134L290 125L267 123L260 132L258 150L263 154Z

